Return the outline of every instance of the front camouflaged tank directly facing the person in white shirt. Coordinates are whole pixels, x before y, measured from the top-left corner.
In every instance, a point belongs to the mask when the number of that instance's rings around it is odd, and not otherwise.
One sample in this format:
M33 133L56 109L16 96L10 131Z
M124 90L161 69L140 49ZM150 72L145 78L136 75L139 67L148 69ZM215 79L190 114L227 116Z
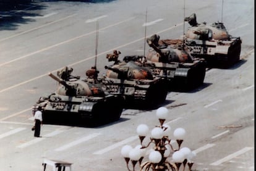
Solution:
M58 76L49 77L58 81L57 90L49 96L41 96L33 106L35 114L42 108L43 123L68 123L96 126L119 120L124 99L103 90L101 83L70 75L72 69L65 67Z

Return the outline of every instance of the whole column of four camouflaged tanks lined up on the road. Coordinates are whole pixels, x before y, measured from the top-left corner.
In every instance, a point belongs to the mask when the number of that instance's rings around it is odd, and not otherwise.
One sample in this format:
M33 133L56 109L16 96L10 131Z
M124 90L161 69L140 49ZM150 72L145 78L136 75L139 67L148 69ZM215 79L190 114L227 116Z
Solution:
M228 34L223 23L198 24L196 15L186 17L191 27L182 39L147 38L150 49L146 56L124 56L120 51L107 54L114 64L105 66L98 77L96 67L87 70L87 79L71 75L64 67L49 77L58 81L57 90L41 97L33 113L42 107L44 122L99 125L119 120L122 110L152 109L160 106L168 91L190 91L203 84L206 68L216 64L229 66L239 60L241 39ZM96 64L95 64L96 65Z

